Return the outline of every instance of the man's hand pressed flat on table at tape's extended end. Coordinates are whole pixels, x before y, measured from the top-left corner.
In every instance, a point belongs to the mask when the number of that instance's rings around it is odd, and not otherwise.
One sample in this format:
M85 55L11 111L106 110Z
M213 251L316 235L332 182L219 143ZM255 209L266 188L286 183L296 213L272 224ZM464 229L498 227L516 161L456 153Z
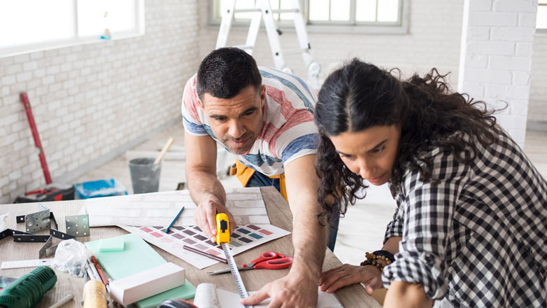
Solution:
M317 307L317 287L317 281L311 277L289 273L271 281L250 297L241 299L241 304L259 304L271 297L268 308Z

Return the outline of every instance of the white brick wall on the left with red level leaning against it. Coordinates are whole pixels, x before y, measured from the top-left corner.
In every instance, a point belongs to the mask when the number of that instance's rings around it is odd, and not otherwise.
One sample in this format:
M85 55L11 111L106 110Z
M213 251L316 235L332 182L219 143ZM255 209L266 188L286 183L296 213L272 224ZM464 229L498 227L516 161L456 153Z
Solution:
M0 58L0 204L45 183L20 92L55 179L180 117L199 64L198 1L145 1L146 34Z

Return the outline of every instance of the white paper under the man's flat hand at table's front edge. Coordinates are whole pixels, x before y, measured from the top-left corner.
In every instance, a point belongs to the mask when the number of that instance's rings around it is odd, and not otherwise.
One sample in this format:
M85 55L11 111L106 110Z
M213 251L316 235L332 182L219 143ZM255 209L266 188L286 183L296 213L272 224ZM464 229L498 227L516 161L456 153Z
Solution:
M252 295L255 292L249 292ZM194 304L199 308L244 308L239 302L239 294L222 290L213 283L200 283L196 288ZM255 308L266 308L270 299L264 300L260 304L255 304ZM342 304L332 293L325 293L318 289L318 308L343 308Z

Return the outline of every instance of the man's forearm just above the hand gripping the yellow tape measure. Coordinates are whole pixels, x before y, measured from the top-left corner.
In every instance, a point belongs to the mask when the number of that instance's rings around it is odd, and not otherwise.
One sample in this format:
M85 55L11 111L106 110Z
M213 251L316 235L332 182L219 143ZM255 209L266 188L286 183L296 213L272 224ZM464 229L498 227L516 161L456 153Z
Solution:
M216 174L201 170L187 170L186 179L190 196L196 204L213 200L220 204L226 203L226 193Z

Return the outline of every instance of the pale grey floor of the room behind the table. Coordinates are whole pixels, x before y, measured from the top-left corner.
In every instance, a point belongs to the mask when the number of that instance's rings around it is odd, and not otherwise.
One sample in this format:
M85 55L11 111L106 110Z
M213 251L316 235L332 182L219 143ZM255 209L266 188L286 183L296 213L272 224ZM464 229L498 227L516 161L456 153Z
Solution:
M173 125L156 134L145 143L132 151L159 151L164 143L173 137L175 142L169 155L162 161L162 174L159 190L175 190L178 183L185 182L185 162L183 157L184 133L182 123ZM539 172L547 178L547 132L527 131L524 151ZM136 153L138 154L138 153ZM220 153L220 156L222 153ZM220 157L219 156L219 157ZM132 193L131 177L129 176L128 162L131 155L120 155L106 165L88 172L78 179L78 182L97 179L114 178L126 186L128 193ZM222 156L222 168L226 170L234 161ZM241 187L235 176L225 176L221 179L226 188ZM395 211L395 201L392 199L388 186L371 186L365 200L359 200L353 207L348 208L346 217L341 218L336 248L334 253L345 263L359 264L364 260L365 251L374 251L382 246L385 226L390 222Z

